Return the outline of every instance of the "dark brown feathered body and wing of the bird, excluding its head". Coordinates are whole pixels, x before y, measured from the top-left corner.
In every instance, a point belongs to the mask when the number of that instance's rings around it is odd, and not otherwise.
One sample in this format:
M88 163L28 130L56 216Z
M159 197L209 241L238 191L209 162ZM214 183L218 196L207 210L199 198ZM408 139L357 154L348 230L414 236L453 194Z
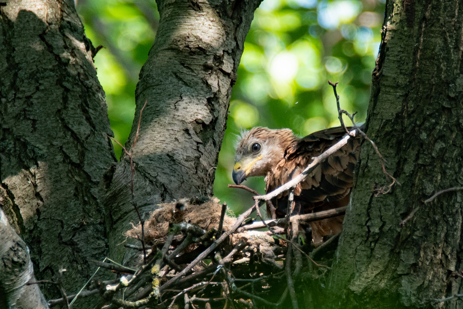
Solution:
M266 177L266 192L278 188L299 175L312 162L313 157L319 156L344 135L344 128L334 127L313 132L293 142L286 148L284 158ZM301 213L310 213L347 205L353 185L354 168L360 152L360 142L359 137L349 139L346 145L297 185L294 189L295 211L300 209ZM277 196L273 202L278 208L277 215L285 215L288 192ZM332 234L339 233L339 221L340 218L332 218L311 224L314 241L319 241L320 237L326 235L326 231L331 231Z

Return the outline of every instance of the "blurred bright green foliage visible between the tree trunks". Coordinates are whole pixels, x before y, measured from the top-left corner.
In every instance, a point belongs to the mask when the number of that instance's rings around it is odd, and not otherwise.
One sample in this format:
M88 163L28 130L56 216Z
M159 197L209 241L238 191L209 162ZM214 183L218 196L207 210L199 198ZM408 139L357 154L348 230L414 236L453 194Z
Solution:
M288 127L304 136L338 126L328 80L339 81L341 107L358 112L357 122L365 120L384 10L381 0L264 0L257 9L233 87L214 182L214 195L236 214L252 203L250 193L227 188L233 183L235 143L242 130ZM77 11L88 38L105 47L94 61L111 127L124 145L135 112L138 73L156 36L156 2L79 0ZM114 149L119 158L121 147L114 143ZM262 177L244 184L264 192Z

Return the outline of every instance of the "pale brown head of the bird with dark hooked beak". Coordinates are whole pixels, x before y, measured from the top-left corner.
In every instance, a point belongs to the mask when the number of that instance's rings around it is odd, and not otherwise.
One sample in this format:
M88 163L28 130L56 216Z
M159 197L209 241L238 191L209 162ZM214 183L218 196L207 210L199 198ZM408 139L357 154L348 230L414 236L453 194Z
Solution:
M295 139L297 137L290 129L272 130L258 126L244 132L236 149L233 181L240 184L247 177L266 176Z

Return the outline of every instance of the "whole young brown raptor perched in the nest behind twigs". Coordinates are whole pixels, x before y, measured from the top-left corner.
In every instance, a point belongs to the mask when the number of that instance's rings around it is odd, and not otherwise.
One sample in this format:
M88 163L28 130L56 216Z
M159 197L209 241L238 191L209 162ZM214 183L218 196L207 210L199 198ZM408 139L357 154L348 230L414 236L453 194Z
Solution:
M239 184L247 177L265 176L268 193L299 175L320 155L345 135L344 128L333 127L298 138L290 129L252 128L240 140L235 156L233 180ZM354 167L360 152L360 138L349 139L347 145L320 164L294 189L293 214L307 214L346 206L353 185ZM288 207L288 192L272 200L277 217ZM314 242L325 235L341 232L344 217L311 222Z

